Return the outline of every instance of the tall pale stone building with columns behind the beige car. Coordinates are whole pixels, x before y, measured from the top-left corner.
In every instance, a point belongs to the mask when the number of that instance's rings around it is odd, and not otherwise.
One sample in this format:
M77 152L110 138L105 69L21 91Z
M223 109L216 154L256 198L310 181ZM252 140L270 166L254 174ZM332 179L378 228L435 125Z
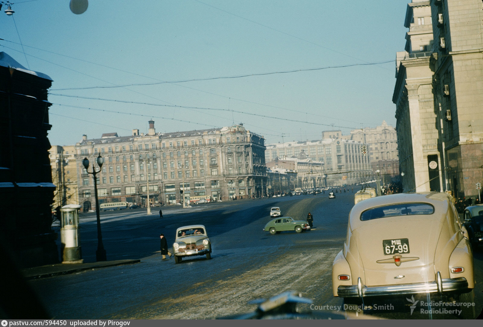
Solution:
M393 102L405 191L476 197L483 181L483 4L413 0Z

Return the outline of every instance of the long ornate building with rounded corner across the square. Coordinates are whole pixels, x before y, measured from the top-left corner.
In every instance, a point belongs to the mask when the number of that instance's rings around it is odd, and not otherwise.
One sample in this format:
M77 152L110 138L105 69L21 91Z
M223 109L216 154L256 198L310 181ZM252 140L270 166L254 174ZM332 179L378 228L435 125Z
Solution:
M99 154L104 157L97 175L99 204L126 201L146 205L148 192L150 204L258 196L267 179L264 142L263 136L242 124L156 133L154 121L149 121L147 134L134 129L131 136L83 136L75 145L79 201L84 210L95 207L94 180L82 160L89 159L91 171Z

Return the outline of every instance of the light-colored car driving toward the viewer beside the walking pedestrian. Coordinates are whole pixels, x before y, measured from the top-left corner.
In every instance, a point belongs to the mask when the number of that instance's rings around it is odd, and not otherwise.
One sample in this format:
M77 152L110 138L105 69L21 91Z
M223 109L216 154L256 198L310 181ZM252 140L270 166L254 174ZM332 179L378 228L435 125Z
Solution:
M183 226L176 230L173 243L174 262L179 263L184 257L204 256L211 259L211 241L203 225Z

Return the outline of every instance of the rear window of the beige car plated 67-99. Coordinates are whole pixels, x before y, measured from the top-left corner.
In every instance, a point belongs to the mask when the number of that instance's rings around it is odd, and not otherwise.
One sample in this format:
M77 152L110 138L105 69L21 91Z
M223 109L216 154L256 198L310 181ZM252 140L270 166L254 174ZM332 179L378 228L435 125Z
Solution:
M433 213L434 207L427 203L390 204L364 211L361 214L361 220L396 216L431 215Z

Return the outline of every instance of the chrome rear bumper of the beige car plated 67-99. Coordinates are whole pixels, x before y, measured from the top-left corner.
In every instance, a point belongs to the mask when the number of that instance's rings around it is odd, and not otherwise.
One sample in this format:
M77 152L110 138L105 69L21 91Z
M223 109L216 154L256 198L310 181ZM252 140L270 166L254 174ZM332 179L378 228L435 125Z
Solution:
M468 289L468 281L464 277L441 279L441 274L436 274L436 280L429 283L394 284L381 286L365 286L361 278L357 279L357 285L341 285L337 287L337 295L341 298L362 298L365 296L387 296L414 293L442 293L449 291L464 291Z

